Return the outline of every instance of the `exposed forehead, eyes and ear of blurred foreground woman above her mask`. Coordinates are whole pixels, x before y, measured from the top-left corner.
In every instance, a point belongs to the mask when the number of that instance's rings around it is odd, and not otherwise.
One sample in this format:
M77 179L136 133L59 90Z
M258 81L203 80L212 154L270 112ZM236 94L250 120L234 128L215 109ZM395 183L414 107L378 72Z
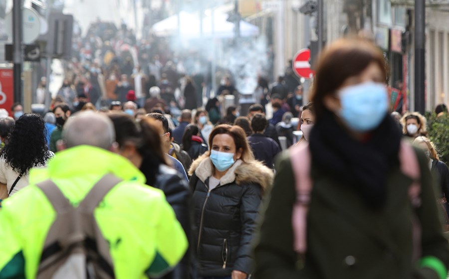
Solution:
M337 89L337 92L345 87L369 81L376 83L385 82L383 71L376 62L371 62L371 64L369 64L359 75L347 78L340 86L340 88ZM334 113L339 112L341 109L341 103L340 99L337 96L337 92L324 97L324 105L328 110Z

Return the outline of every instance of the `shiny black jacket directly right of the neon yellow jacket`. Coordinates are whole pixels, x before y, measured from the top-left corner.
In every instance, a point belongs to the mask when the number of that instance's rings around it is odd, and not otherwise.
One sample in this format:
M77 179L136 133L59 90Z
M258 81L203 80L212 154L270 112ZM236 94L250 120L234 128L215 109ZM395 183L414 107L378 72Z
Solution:
M145 169L140 169L147 177ZM166 165L160 165L158 174L156 175L156 182L151 185L155 188L161 189L167 202L175 211L176 218L186 233L189 240L189 247L191 243L191 191L187 182L179 175L179 173ZM151 214L151 213L150 213ZM169 274L162 277L163 279L189 279L191 277L191 250L188 249L184 258Z

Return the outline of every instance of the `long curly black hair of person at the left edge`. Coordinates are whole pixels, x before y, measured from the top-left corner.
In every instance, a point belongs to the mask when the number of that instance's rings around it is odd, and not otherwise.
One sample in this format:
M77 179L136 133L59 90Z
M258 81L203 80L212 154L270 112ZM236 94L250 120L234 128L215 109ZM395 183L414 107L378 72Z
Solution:
M51 157L45 139L45 122L40 115L25 114L15 122L0 156L18 173L45 165Z

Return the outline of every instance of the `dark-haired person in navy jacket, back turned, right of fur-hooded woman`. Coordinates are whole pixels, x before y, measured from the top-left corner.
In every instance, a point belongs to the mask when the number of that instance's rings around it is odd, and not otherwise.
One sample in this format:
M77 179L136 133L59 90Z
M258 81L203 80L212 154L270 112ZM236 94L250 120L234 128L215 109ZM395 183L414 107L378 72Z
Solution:
M248 137L248 142L256 160L263 162L269 168L273 168L274 157L281 150L273 139L263 135L267 125L268 121L265 116L256 114L251 120L251 128L254 134Z

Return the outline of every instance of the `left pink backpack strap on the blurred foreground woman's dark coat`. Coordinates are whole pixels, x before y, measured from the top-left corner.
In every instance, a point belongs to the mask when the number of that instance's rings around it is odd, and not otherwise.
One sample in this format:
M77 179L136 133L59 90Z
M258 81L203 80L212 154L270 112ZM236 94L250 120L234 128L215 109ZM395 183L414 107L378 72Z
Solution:
M309 145L303 143L292 147L290 161L296 188L296 200L292 212L293 247L297 253L304 254L307 249L307 212L312 191Z

